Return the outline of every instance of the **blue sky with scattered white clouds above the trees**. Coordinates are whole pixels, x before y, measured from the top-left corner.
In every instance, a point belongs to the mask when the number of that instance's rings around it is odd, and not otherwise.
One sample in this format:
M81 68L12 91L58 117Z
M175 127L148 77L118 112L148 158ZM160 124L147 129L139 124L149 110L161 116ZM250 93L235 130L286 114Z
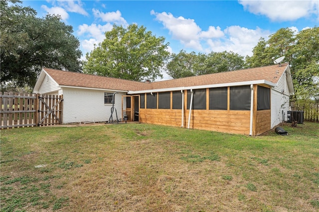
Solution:
M104 40L112 25L144 25L164 36L168 50L178 53L233 51L252 55L260 37L280 28L296 32L319 26L318 0L24 0L39 17L59 14L80 40L85 54Z

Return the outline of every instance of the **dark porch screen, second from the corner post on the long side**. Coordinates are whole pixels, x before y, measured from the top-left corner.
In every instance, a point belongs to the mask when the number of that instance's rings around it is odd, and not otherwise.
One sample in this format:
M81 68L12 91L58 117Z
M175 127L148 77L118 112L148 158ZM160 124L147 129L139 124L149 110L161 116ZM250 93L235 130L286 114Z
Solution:
M209 109L227 110L227 87L209 89Z

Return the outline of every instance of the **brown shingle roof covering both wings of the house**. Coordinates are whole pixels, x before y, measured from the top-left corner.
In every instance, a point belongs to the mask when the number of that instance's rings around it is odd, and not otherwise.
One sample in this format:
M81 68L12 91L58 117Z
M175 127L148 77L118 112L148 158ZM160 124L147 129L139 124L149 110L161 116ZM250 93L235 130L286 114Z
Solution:
M120 91L144 91L178 87L203 86L267 80L276 84L289 64L272 65L238 71L207 74L153 83L135 82L117 78L87 75L77 72L43 68L60 86L110 89Z

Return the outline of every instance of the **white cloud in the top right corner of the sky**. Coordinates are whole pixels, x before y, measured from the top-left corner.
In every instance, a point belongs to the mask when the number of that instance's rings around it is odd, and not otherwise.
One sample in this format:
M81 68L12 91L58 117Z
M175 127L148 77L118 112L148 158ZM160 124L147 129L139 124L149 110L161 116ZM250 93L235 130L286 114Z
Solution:
M291 21L316 15L318 0L239 0L249 12L266 15L272 21Z

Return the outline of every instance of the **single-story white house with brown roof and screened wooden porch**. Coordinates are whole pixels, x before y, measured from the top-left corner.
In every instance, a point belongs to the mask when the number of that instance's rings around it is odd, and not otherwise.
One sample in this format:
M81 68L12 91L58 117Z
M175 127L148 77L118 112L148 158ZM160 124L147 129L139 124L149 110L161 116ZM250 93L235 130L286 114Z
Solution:
M294 88L287 63L153 83L43 68L33 93L63 95L64 123L109 120L115 94L121 119L259 135L287 120Z

